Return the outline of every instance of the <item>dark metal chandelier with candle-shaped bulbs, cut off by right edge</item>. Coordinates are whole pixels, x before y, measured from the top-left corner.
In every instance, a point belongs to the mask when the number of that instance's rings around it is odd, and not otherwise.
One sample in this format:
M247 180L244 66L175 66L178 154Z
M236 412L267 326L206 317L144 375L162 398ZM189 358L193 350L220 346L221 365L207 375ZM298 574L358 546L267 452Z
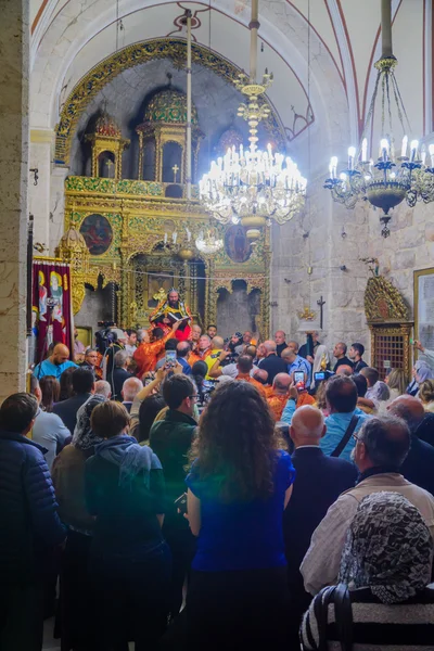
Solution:
M354 208L360 200L381 208L383 238L391 234L390 210L404 200L410 207L413 207L418 200L425 203L434 201L434 145L429 146L427 159L424 145L420 146L416 139L409 142L407 136L411 128L394 73L397 60L392 52L391 14L391 0L382 0L382 56L374 64L378 74L361 142L358 149L348 148L347 167L340 173L337 157L332 156L330 177L324 182L324 188L331 191L333 200L347 208ZM373 128L376 104L381 106L381 140L379 155L374 161L368 156L366 133ZM397 116L404 133L398 150L392 129L393 116Z

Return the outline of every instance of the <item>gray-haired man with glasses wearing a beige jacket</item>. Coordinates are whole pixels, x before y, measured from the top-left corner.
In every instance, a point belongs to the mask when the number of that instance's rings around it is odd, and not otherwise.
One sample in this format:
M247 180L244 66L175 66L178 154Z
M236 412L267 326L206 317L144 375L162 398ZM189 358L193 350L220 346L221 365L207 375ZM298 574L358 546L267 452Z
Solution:
M311 595L336 583L348 526L360 501L371 493L385 490L404 495L419 509L434 537L434 497L405 480L400 472L410 449L407 423L392 416L372 418L363 423L354 437L356 447L353 458L359 470L357 485L330 507L314 532L299 569L305 589Z

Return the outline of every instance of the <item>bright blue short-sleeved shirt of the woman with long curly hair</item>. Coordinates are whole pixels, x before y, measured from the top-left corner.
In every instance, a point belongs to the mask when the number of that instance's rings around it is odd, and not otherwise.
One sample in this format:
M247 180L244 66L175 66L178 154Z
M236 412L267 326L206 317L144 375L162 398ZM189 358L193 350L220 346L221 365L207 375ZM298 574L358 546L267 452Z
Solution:
M209 483L193 465L186 483L201 500L201 532L192 567L202 572L286 565L282 515L284 495L295 478L290 455L276 452L275 492L266 500L222 502L209 497Z

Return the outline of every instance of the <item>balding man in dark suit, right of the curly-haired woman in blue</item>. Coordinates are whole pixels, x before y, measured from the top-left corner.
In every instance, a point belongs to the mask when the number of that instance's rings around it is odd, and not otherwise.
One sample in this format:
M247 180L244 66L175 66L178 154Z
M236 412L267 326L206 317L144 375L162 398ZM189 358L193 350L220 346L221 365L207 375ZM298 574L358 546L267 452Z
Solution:
M292 462L297 475L283 513L294 644L301 618L310 602L310 596L304 589L299 565L309 548L310 537L329 507L341 493L355 485L358 474L354 463L323 454L319 442L324 434L324 418L319 409L306 405L295 411L290 436L295 447Z

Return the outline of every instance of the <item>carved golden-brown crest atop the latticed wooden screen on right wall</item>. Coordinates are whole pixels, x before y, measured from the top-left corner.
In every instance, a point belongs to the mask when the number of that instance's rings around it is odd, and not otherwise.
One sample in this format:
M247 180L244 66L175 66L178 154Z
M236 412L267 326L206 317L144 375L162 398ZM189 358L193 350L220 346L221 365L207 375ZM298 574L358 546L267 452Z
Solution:
M403 296L384 276L374 276L368 280L365 314L368 322L384 323L409 319L409 310Z

